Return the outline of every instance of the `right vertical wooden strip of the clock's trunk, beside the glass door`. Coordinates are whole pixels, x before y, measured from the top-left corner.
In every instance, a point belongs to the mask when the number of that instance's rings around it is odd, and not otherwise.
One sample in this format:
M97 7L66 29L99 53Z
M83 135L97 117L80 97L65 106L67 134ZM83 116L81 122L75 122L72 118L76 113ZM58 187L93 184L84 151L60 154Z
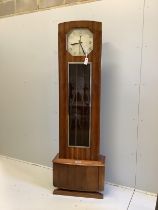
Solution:
M98 160L100 146L100 77L101 77L101 33L102 24L93 22L94 49L92 54L92 139L91 139L91 159ZM97 53L96 53L97 52Z

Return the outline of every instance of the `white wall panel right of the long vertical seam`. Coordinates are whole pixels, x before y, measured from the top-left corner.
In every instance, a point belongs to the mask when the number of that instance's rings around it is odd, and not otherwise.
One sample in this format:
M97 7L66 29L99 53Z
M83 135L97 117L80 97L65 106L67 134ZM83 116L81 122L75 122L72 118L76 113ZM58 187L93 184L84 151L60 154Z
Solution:
M158 192L158 1L144 10L137 187Z

